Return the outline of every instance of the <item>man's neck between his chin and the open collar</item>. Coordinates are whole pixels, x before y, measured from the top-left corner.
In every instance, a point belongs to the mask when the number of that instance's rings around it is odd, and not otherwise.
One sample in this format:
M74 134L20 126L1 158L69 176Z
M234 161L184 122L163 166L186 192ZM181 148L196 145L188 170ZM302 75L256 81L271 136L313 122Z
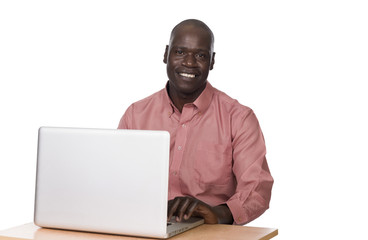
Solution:
M184 105L187 103L193 103L199 97L199 95L201 95L203 90L206 88L206 85L207 83L204 84L201 88L199 88L195 92L186 94L177 91L169 82L167 86L167 92L169 94L171 101L174 103L175 107L181 113Z

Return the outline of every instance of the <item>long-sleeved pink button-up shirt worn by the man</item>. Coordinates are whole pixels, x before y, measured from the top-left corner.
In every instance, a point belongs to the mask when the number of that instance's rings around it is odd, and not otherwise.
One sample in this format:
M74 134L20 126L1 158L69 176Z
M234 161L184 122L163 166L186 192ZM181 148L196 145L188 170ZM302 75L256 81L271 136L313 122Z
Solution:
M211 84L182 113L162 89L133 103L118 128L170 133L169 199L192 196L211 206L227 204L236 224L268 208L273 178L258 120Z

